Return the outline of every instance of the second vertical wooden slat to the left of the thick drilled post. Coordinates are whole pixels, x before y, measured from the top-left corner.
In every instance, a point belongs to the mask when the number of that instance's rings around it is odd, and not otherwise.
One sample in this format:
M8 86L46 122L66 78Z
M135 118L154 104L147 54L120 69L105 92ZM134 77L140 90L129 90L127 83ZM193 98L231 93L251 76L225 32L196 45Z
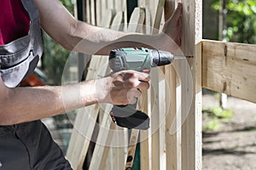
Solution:
M152 32L157 34L160 31L160 22L163 14L165 0L157 0L148 2L150 5L150 14L152 16ZM164 73L163 67L161 69L155 68L151 71L151 134L152 134L152 153L151 153L151 167L152 170L166 168L166 145L165 145L165 79L161 77Z

